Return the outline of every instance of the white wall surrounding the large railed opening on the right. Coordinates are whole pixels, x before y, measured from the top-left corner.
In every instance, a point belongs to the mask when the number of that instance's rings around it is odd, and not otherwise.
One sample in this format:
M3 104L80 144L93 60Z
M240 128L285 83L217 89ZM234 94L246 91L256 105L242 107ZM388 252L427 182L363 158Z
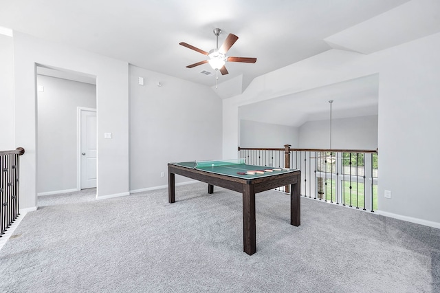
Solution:
M440 144L439 50L440 34L432 34L369 55L329 50L259 76L243 94L223 100L223 158L236 154L239 144L238 107L378 73L378 208L383 215L440 228L434 178ZM391 199L384 199L384 190L392 191Z

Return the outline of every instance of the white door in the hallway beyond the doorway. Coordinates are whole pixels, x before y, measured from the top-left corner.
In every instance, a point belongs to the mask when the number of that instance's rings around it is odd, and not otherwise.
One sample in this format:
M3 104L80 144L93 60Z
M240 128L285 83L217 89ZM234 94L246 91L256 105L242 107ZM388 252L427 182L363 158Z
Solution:
M80 188L96 187L96 111L80 111Z

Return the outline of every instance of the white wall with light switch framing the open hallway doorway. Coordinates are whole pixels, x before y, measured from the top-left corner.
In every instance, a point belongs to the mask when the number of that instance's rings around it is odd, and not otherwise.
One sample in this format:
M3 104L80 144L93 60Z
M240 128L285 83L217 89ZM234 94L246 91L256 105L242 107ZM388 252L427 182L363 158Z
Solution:
M36 206L36 64L96 76L97 196L129 194L129 65L14 32L15 139L21 156L20 207ZM111 140L104 133L113 133Z

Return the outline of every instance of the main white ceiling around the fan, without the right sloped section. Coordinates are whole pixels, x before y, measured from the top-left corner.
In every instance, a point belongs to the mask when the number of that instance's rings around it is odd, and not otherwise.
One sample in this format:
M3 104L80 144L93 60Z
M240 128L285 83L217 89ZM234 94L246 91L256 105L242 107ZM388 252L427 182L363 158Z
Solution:
M256 57L255 64L228 63L219 83L261 76L331 49L325 39L408 0L0 0L0 26L127 61L146 69L214 85L215 76L186 65L209 51L212 30L239 36L228 56Z

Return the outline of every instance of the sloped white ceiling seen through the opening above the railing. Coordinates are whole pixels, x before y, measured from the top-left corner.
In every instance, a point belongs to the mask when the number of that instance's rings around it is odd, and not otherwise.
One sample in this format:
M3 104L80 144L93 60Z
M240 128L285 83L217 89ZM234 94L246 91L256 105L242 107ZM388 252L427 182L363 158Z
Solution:
M326 87L256 102L239 108L243 120L300 127L307 121L377 115L379 76L371 75Z

